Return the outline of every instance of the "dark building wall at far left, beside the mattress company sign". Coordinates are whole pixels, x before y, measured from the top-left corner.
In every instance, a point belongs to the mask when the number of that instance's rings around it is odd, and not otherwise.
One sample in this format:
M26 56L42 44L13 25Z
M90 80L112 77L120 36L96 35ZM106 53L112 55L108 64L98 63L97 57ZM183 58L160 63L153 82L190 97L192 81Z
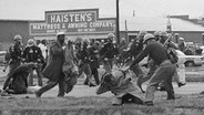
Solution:
M29 39L28 21L21 20L0 20L0 50L8 50L13 43L16 34L20 34L26 44Z

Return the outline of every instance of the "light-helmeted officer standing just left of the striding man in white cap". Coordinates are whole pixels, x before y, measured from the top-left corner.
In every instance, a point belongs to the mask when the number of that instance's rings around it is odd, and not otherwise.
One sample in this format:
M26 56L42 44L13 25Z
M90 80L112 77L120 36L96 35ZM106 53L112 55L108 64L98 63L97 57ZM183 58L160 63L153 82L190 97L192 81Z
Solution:
M35 45L35 41L33 39L29 39L27 46L22 54L23 62L26 63L38 63L39 66L37 69L38 74L38 84L42 86L42 75L41 75L41 64L44 63L44 58L39 46ZM28 77L29 86L33 85L33 71L30 73Z

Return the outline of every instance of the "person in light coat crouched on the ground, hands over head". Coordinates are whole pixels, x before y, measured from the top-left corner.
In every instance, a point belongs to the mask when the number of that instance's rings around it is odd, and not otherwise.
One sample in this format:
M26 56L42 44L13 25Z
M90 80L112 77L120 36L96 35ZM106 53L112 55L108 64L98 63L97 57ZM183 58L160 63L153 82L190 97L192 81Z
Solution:
M96 90L96 94L103 94L111 91L115 96L112 101L113 105L122 105L125 103L143 104L137 95L137 87L131 81L130 72L113 71L105 73L101 79L101 84Z

